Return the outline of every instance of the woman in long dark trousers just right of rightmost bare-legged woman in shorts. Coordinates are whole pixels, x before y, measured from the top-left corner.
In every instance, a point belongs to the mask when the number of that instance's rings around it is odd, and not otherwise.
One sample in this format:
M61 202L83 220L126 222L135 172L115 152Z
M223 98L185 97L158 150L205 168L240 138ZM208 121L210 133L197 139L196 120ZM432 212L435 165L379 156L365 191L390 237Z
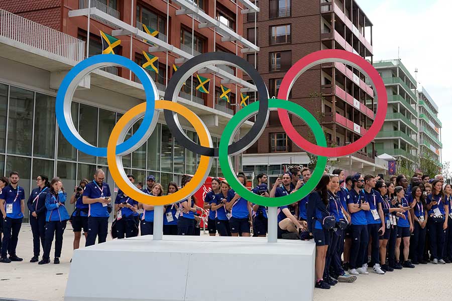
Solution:
M422 194L420 186L414 186L411 189L412 202L410 204L410 214L412 223L414 224L413 237L411 238L411 263L412 264L426 264L423 260L424 248L425 248L425 236L427 233L427 220L428 214L425 210L425 198Z

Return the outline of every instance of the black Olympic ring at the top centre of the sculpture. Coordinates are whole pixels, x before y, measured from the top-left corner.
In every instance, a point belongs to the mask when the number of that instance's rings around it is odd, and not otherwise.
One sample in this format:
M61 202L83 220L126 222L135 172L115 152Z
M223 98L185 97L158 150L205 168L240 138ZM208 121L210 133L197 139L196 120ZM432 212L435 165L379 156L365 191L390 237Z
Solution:
M225 52L208 52L195 56L182 64L168 81L165 91L166 100L177 99L180 89L184 84L188 74L190 76L199 69L213 64L227 64L245 71L250 76L256 85L259 98L259 111L256 114L256 121L254 122L248 133L238 141L229 145L228 154L230 156L239 154L243 149L253 145L254 142L261 136L267 125L269 110L268 110L268 91L267 86L262 79L262 76L254 68L241 57L232 53ZM171 133L176 138L177 142L195 154L208 157L218 157L218 147L205 147L193 142L182 130L179 124L177 114L170 110L164 110L166 124Z

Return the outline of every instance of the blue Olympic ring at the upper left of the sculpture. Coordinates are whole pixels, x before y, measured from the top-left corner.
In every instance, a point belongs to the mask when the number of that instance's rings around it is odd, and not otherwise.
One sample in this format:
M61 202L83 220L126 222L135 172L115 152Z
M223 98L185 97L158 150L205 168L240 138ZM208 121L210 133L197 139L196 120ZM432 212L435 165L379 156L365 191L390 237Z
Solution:
M75 88L80 80L95 69L104 66L121 66L131 70L140 79L146 94L146 111L143 122L132 137L118 145L116 150L118 155L126 153L132 148L136 148L136 145L142 142L143 137L151 128L152 119L154 117L155 101L158 100L159 97L157 87L149 74L135 62L123 56L100 54L87 58L75 65L64 77L60 88L58 89L55 104L56 118L61 132L70 144L80 150L80 152L96 157L106 157L106 147L96 147L86 142L80 136L72 122L70 107Z

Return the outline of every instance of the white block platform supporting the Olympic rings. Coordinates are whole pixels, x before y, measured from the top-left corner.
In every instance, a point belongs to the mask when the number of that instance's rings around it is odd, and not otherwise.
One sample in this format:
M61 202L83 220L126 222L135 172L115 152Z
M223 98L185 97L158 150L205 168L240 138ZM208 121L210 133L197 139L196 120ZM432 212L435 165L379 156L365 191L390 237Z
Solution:
M312 300L315 244L151 235L76 250L65 301Z

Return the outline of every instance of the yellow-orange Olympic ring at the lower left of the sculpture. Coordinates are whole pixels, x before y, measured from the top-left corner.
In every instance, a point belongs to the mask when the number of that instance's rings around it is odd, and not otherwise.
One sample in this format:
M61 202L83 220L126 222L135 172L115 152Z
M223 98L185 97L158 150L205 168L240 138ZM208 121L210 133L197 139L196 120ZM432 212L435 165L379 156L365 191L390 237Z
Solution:
M195 129L201 145L205 147L212 147L212 140L207 132L204 123L195 113L190 111L188 108L184 107L183 105L177 102L172 102L168 100L156 100L155 108L156 110L157 109L171 110L185 117L185 119L187 119L188 122L190 122L193 128ZM115 127L111 131L111 135L108 138L107 144L107 162L109 171L111 173L111 177L113 178L113 180L115 180L118 187L127 196L131 197L134 200L139 201L140 203L158 206L180 202L181 200L188 198L188 196L190 196L193 191L196 191L199 188L199 186L201 186L204 183L208 175L208 172L210 171L210 167L212 165L213 160L211 157L201 156L198 170L193 175L193 179L191 179L191 181L188 182L179 191L161 197L148 195L140 191L132 183L128 183L127 181L125 181L125 179L127 179L125 171L124 170L120 171L120 169L118 168L118 160L122 159L121 156L116 155L116 146L118 143L118 139L120 138L121 131L126 126L128 126L129 122L132 119L134 119L140 114L143 114L145 110L146 103L141 103L139 105L134 106L120 118L120 120L116 123Z

